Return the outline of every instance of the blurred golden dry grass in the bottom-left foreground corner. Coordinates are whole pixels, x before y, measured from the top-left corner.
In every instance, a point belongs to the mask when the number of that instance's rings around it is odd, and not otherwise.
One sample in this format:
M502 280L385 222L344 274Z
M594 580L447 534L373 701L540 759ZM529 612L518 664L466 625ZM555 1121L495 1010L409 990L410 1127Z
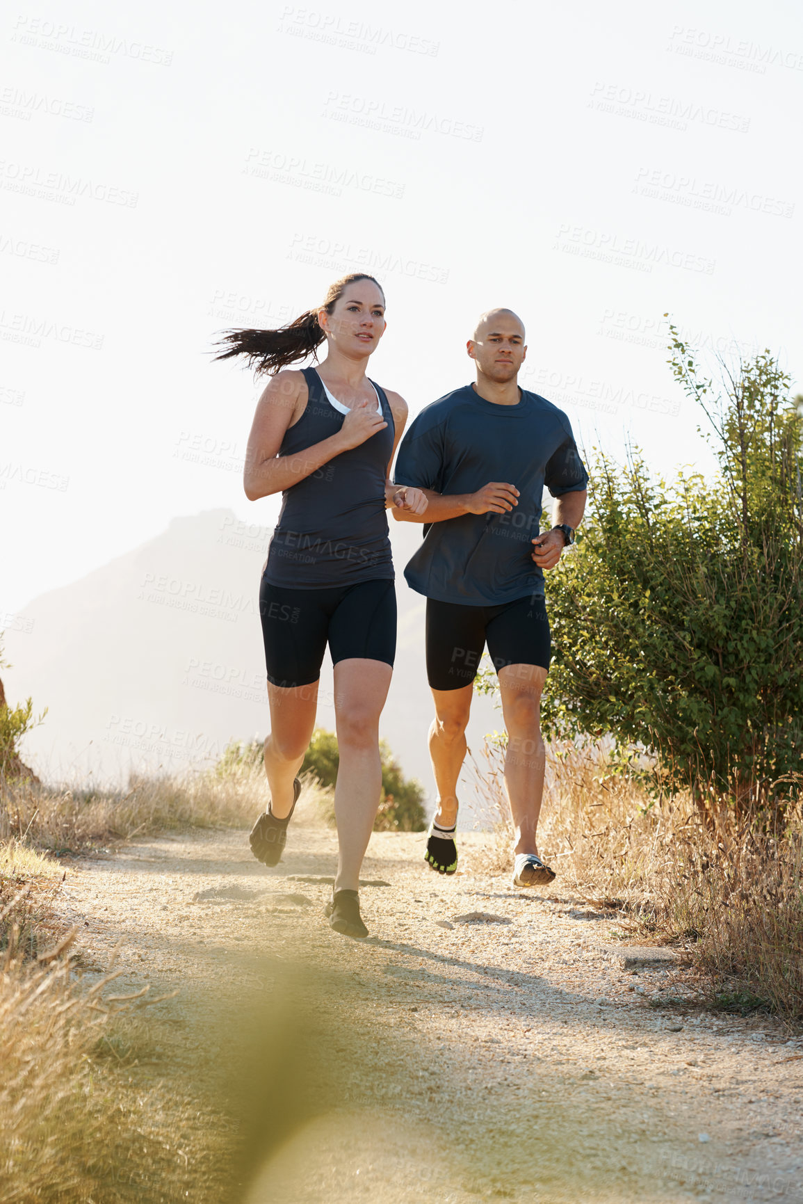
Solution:
M135 1007L114 996L116 974L91 987L76 981L72 934L31 957L19 939L30 923L19 893L0 908L0 1199L219 1199L203 1157L190 1164L185 1152L201 1144L189 1133L197 1110L135 1086L124 1060L110 1056Z

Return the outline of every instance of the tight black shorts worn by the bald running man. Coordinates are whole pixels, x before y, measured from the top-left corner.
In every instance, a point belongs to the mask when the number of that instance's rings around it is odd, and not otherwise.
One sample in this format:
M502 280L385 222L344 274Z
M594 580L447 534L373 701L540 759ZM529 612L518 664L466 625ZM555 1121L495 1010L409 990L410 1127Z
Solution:
M426 675L433 690L471 685L486 642L497 673L506 665L549 669L551 641L543 597L501 606L426 600Z

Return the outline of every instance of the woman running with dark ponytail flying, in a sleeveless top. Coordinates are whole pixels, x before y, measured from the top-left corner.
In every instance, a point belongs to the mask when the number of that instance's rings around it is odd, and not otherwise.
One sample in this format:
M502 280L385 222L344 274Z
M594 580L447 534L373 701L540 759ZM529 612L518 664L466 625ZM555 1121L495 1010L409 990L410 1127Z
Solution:
M315 726L326 644L335 666L339 856L329 922L366 937L360 867L382 791L379 715L396 649L396 595L388 506L420 515L426 497L390 480L407 405L366 377L385 330L385 296L372 276L331 285L320 307L282 330L236 330L218 359L248 356L271 376L246 452L250 501L282 492L259 592L271 732L265 740L267 810L250 833L254 856L278 863ZM290 370L326 343L317 368Z

